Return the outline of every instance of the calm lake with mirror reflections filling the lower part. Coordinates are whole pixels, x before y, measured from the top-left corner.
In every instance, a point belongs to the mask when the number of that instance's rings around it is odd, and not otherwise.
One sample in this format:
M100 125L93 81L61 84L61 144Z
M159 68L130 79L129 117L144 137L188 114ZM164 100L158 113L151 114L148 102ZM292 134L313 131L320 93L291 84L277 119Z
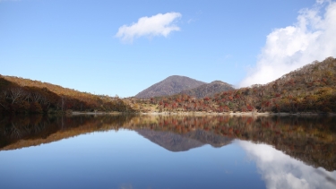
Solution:
M0 188L336 188L334 116L2 116Z

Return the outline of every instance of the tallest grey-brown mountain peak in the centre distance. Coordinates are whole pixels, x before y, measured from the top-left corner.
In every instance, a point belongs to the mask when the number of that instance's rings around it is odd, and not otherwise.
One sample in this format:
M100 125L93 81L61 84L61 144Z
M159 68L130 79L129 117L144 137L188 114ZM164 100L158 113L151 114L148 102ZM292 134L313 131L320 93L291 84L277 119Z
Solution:
M203 84L205 84L205 82L200 82L185 76L172 75L161 82L151 85L151 87L146 90L142 90L134 97L149 99L151 97L169 96L177 94L182 90L194 89Z

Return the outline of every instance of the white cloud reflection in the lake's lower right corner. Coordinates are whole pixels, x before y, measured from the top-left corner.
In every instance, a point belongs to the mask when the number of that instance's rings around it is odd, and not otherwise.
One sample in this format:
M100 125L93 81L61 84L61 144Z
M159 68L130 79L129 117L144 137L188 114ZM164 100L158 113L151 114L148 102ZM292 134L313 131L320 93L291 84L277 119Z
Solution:
M259 169L266 187L335 188L336 171L313 168L266 144L237 141Z

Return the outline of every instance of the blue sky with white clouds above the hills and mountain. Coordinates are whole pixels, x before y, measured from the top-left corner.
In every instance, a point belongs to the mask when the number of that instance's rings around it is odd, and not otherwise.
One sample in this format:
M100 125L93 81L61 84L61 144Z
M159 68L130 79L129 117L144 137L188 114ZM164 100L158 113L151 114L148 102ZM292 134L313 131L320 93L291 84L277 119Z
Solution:
M0 0L0 74L131 97L170 75L236 88L336 57L336 1Z

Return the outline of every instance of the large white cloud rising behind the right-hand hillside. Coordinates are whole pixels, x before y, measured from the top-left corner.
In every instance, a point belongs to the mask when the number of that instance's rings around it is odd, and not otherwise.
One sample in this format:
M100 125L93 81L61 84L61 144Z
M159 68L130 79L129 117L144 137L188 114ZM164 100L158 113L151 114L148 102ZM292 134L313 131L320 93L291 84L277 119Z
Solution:
M335 33L336 2L317 0L313 8L299 12L295 24L275 29L267 36L256 66L240 87L265 84L314 60L336 56Z

